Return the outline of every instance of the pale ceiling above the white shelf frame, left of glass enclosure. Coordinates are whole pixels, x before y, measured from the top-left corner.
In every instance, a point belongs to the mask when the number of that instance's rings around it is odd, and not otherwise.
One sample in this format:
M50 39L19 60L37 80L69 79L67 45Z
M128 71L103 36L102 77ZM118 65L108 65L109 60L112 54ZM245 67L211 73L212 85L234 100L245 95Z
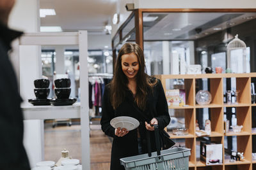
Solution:
M63 31L87 30L106 34L117 0L40 0L40 8L53 8L55 16L41 18L41 26L60 26Z

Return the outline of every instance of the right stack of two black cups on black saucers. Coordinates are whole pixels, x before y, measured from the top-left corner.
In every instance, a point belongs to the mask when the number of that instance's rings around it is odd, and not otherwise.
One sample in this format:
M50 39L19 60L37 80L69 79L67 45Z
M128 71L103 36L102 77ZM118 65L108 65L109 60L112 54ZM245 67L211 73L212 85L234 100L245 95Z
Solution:
M51 104L54 106L72 105L76 102L76 99L69 98L71 88L69 78L60 78L54 80L55 89L54 92L57 99L52 99Z

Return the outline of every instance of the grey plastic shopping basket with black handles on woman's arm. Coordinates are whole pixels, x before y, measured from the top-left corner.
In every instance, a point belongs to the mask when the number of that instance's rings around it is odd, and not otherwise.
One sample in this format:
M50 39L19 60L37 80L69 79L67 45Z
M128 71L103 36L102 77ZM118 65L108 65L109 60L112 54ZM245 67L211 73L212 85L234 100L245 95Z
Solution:
M156 131L157 128L157 131ZM159 133L155 127L155 134ZM158 140L158 141L157 141ZM120 159L125 170L187 170L189 169L189 148L169 148L160 151L159 135L156 135L157 152L145 153ZM151 157L150 157L151 155Z

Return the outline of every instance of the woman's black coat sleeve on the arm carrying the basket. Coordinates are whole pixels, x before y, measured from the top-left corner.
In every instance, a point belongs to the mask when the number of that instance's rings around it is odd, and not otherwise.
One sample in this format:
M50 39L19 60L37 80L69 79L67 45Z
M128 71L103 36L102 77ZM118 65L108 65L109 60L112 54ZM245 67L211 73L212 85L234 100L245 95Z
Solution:
M168 111L168 104L164 94L163 85L160 80L157 80L156 90L158 93L158 99L156 104L156 111L159 129L164 129L170 123L170 115Z

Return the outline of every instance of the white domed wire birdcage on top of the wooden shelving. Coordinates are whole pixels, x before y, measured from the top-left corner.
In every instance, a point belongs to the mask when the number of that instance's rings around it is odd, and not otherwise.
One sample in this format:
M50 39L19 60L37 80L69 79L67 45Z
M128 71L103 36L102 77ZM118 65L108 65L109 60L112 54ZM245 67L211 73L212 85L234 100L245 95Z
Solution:
M235 38L228 43L227 52L227 67L231 68L230 66L230 52L232 50L242 49L243 50L243 73L246 73L246 44L244 41L238 38L238 34L236 34Z

